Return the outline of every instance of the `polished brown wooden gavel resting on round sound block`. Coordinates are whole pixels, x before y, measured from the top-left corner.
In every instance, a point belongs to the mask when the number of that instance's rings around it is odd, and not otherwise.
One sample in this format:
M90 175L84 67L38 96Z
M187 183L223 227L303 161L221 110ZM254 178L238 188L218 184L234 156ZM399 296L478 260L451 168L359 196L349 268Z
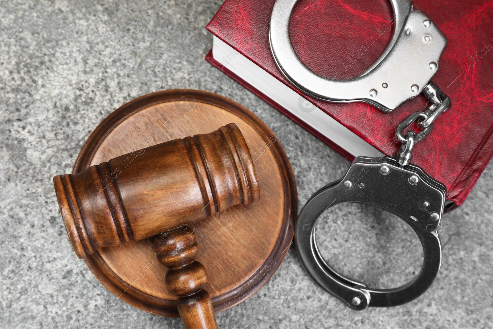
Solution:
M195 260L198 245L187 225L260 198L250 151L235 123L55 176L53 183L79 258L152 237L185 328L217 328L203 289L207 271Z

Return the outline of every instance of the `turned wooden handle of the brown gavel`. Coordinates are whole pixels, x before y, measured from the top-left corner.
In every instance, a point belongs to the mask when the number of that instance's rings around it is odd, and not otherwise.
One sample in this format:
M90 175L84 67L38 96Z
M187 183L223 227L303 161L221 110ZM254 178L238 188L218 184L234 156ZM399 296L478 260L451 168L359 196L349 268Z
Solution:
M198 245L188 226L156 235L152 249L158 261L168 267L165 283L178 296L177 308L186 329L217 329L209 292L204 286L207 271L195 260Z

